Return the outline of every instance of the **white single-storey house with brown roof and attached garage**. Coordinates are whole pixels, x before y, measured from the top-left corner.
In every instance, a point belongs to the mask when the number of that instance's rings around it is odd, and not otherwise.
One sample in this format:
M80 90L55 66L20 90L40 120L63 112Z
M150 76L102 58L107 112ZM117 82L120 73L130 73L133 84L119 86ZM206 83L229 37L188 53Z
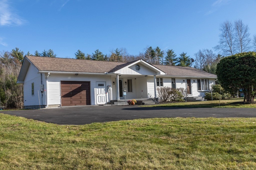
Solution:
M17 83L24 84L25 108L124 104L125 98L157 98L157 88L187 88L202 99L217 76L195 68L152 65L143 59L112 62L25 56Z

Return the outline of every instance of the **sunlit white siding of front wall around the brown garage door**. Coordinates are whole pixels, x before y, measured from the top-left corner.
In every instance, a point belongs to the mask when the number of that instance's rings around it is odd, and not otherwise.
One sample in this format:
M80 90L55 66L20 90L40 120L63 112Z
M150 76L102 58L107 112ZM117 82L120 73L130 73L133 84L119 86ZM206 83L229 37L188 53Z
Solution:
M60 96L60 81L88 81L91 87L91 104L96 103L96 81L106 82L106 86L112 86L110 76L107 75L82 75L78 74L54 74L51 73L48 77L48 105L61 104ZM107 94L107 101L111 99L111 91Z

